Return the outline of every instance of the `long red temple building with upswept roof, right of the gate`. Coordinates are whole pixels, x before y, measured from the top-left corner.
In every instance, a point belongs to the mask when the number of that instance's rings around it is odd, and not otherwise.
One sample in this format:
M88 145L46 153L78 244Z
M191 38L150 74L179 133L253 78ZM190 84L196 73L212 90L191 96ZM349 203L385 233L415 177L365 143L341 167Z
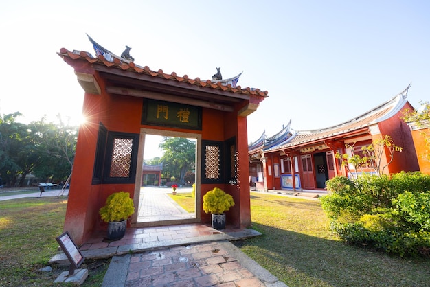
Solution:
M402 119L403 111L414 109L407 101L409 87L336 126L293 130L290 122L273 137L263 133L248 146L251 190L324 190L326 181L337 175L374 173L371 168L355 170L354 165L342 165L335 154L363 155L363 146L375 145L385 135L402 151L391 158L389 150L383 149L381 165L392 159L383 173L420 170L411 130Z

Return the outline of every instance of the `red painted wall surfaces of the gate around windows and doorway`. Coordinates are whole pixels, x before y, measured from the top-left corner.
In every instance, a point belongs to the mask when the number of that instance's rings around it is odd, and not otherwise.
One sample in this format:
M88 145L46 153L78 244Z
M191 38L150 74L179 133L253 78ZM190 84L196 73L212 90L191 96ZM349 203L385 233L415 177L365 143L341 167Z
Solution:
M143 100L139 97L111 95L106 93L105 82L94 72L101 88L101 95L85 93L83 115L87 123L80 127L76 157L71 177L69 200L66 211L64 230L69 231L77 244L89 239L95 230L106 229L98 211L113 192L129 192L134 197L135 184L100 184L91 185L93 167L100 122L109 131L122 133L140 133L140 128L158 128L188 133L201 133L203 140L225 141L236 137L239 153L240 180L245 184L201 185L201 198L214 187L220 187L234 197L235 205L227 213L227 224L248 227L251 224L249 203L249 176L247 157L247 119L238 117L238 107L227 113L203 108L202 131L177 128L143 126L141 124ZM204 172L204 171L202 171ZM136 183L139 185L139 183ZM201 203L203 205L203 202ZM201 210L202 222L210 222L210 215Z

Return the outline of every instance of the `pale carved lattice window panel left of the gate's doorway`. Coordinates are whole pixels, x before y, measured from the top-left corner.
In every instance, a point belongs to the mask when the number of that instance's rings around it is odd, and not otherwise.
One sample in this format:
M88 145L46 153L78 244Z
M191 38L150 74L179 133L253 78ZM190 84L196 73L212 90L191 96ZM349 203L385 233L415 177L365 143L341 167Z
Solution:
M131 154L133 152L133 139L113 139L110 177L130 176Z

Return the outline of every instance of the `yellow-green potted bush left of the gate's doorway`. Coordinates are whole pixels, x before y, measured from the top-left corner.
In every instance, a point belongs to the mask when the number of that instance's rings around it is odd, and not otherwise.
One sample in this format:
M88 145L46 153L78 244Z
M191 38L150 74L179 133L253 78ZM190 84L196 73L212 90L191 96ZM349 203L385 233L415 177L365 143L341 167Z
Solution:
M135 212L133 199L128 192L115 192L106 198L106 205L99 211L108 223L107 238L120 240L126 233L127 219Z

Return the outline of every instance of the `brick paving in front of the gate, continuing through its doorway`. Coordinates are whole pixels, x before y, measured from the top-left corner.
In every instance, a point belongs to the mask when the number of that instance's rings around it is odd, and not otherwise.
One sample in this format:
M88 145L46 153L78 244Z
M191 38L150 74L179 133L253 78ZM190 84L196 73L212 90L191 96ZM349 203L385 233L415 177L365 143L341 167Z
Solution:
M166 194L141 191L139 221L192 216ZM227 240L256 236L251 230L218 231L202 223L127 228L121 240L98 231L80 250L87 259L112 257L102 287L286 286ZM64 262L58 254L49 262Z

